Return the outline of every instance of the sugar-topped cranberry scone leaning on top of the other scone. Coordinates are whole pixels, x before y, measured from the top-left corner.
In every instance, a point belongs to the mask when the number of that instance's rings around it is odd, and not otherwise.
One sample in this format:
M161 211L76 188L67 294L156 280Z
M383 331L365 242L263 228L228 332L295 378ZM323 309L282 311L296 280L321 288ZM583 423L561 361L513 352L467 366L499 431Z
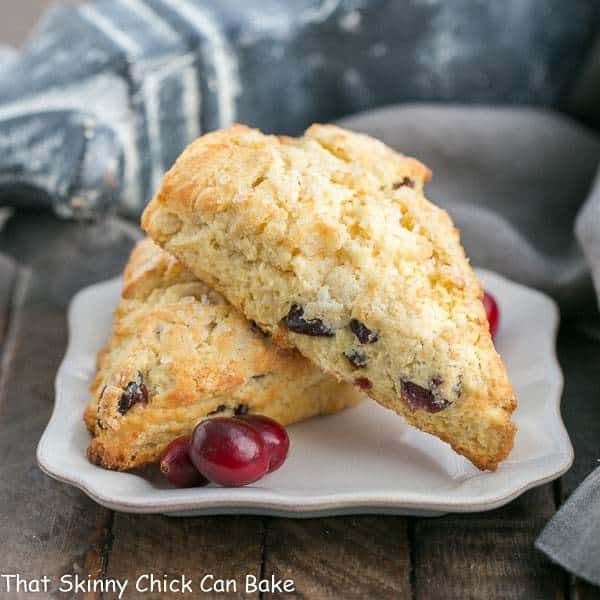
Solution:
M338 127L236 125L183 152L142 226L277 343L495 469L515 397L429 177Z

